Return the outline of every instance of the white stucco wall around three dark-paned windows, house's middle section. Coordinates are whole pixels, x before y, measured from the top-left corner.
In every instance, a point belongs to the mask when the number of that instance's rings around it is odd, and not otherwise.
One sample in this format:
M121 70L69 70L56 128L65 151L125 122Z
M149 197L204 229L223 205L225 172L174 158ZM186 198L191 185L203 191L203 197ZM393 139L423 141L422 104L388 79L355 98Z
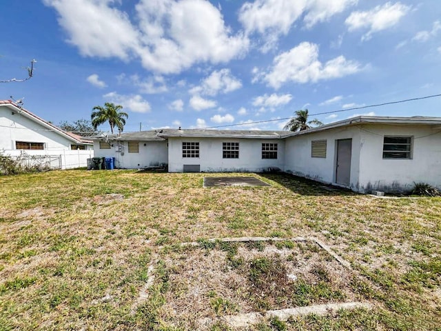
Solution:
M199 158L182 157L182 143L199 142ZM238 142L239 158L223 159L222 143ZM262 159L262 143L278 143L277 159ZM184 164L201 165L201 172L261 172L283 170L285 141L280 139L169 138L169 172L183 172Z

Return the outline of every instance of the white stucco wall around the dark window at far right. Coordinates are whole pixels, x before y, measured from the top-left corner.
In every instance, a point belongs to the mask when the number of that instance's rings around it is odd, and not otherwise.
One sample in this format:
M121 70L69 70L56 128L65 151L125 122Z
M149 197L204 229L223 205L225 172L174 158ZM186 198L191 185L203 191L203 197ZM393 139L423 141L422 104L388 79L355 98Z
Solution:
M440 128L427 126L363 126L360 192L406 192L413 183L441 189ZM384 135L413 137L412 159L383 159Z

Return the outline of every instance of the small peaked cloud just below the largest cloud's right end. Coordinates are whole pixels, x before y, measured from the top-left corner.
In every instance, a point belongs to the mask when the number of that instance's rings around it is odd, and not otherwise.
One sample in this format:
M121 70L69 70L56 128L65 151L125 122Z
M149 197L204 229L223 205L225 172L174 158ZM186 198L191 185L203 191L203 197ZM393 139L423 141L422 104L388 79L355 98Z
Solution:
M189 92L192 94L201 93L215 96L219 92L228 93L241 87L242 83L231 74L229 69L221 69L212 72L212 74L201 81L200 86L192 88Z

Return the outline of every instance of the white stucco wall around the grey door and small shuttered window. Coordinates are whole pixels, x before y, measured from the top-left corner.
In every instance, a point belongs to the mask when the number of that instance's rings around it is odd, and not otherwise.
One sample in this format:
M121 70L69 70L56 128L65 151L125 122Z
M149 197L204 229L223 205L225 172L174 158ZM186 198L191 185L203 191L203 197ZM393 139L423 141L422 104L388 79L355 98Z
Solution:
M326 158L311 157L311 141L327 140ZM322 183L336 183L336 144L352 139L350 188L356 190L359 176L360 129L337 128L289 137L285 142L285 172Z

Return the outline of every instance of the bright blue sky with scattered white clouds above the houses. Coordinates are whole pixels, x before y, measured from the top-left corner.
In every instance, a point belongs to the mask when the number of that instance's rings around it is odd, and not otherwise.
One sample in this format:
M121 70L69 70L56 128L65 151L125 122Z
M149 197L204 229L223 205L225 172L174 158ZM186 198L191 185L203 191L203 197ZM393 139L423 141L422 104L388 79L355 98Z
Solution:
M121 104L125 131L279 130L440 93L441 1L2 0L0 99L52 123ZM314 116L441 116L440 98ZM102 126L102 130L109 130Z

